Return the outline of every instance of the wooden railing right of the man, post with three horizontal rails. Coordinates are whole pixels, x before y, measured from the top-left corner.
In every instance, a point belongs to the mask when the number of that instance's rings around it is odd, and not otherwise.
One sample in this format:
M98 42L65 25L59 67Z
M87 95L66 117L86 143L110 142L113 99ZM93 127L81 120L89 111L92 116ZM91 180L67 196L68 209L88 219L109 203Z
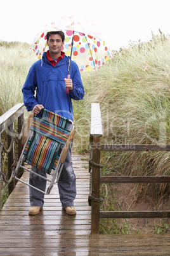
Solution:
M91 197L100 199L100 183L168 183L170 176L100 176L101 151L170 151L170 145L101 144L102 125L100 104L91 106ZM100 203L91 199L91 234L99 234L100 218L169 218L170 211L100 211Z

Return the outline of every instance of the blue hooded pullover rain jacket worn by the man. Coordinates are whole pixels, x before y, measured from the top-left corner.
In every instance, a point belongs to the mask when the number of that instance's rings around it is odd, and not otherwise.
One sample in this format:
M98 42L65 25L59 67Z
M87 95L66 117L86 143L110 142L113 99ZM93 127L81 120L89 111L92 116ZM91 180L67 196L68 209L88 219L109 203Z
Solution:
M79 68L72 61L70 79L72 79L74 89L69 91L69 94L66 93L64 78L68 75L69 59L70 57L64 56L53 67L45 52L42 60L37 60L31 66L22 87L23 103L28 111L31 111L36 104L42 104L47 110L73 120L72 99L82 99L84 87Z

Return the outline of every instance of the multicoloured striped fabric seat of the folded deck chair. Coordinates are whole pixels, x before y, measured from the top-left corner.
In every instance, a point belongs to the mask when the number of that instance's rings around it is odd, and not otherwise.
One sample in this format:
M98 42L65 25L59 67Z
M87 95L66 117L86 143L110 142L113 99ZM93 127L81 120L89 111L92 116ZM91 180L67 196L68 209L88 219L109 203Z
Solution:
M34 117L30 126L30 138L25 146L24 161L50 174L55 170L60 153L65 145L71 123L67 118L42 110L41 118Z

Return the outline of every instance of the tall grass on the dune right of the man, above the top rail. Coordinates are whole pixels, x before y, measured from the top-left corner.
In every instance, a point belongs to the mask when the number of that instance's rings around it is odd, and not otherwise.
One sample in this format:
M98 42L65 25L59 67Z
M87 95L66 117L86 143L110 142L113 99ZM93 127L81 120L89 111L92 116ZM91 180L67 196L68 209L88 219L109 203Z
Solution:
M100 103L104 143L169 144L169 58L169 37L153 35L148 43L129 45L127 49L114 52L112 61L97 74L83 76L86 96L81 110L84 120L88 120L90 104ZM84 136L87 129L89 131L88 122ZM128 157L122 154L126 164L133 153L127 154ZM146 158L143 155L141 153L141 159ZM155 167L165 171L168 164L163 159L168 160L169 153L152 153L154 159L158 155Z

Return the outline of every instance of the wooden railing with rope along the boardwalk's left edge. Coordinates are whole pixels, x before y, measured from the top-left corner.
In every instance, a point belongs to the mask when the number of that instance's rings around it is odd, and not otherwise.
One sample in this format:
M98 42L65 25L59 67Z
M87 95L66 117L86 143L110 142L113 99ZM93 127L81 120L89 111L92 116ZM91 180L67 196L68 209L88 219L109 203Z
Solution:
M15 161L15 146L12 141L13 138L13 132L14 132L14 122L15 120L18 121L18 134L20 134L22 130L23 120L24 120L24 111L25 106L23 103L18 103L13 108L8 110L4 115L0 117L0 146L2 146L1 142L1 134L2 132L7 132L7 140L8 140L8 148L11 145L11 150L8 153L8 178L11 177L11 166L13 165ZM12 143L11 143L12 141ZM18 140L18 155L20 156L22 152L23 145L21 143L21 139ZM0 154L0 178L2 174L2 162L1 162L1 154ZM11 183L8 185L8 192L9 194L12 192L13 188L15 187L15 180L11 181ZM0 210L1 210L1 187L0 187Z

